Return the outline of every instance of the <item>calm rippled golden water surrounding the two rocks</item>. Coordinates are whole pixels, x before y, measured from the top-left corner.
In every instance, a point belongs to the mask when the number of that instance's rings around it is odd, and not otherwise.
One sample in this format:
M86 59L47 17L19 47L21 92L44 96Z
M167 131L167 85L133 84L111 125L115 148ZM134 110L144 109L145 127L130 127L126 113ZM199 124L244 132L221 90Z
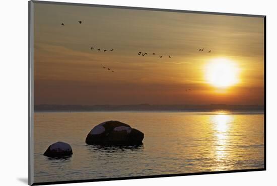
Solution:
M263 168L263 117L257 113L35 113L35 182ZM89 131L107 120L144 132L144 145L87 145ZM56 141L70 143L73 156L43 156Z

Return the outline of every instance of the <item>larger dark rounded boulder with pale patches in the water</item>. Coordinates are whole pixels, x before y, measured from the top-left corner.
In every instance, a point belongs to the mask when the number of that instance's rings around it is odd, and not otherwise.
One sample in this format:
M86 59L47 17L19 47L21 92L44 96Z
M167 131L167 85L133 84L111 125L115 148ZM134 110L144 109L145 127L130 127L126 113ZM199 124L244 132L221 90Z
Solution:
M96 125L88 134L89 145L142 145L144 133L119 121L107 121Z

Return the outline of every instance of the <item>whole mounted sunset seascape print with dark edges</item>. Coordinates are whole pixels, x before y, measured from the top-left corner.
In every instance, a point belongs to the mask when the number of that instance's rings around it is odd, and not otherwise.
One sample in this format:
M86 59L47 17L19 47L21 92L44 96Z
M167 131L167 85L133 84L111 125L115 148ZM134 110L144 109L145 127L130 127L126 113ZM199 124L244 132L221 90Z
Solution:
M29 86L31 185L265 170L265 16L31 1Z

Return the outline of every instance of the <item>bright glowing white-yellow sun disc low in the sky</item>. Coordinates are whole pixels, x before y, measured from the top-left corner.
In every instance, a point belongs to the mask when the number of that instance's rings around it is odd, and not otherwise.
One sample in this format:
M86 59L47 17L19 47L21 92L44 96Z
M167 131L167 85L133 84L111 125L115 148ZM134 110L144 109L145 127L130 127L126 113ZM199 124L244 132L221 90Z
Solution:
M238 83L239 68L234 61L217 58L207 63L205 68L206 81L213 86L227 88Z

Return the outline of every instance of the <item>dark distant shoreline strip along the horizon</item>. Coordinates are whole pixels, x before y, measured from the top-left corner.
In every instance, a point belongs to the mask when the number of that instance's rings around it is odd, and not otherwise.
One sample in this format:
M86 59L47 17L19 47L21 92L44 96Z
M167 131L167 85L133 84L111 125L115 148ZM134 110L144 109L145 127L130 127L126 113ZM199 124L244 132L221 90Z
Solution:
M34 112L257 112L263 105L35 105Z

